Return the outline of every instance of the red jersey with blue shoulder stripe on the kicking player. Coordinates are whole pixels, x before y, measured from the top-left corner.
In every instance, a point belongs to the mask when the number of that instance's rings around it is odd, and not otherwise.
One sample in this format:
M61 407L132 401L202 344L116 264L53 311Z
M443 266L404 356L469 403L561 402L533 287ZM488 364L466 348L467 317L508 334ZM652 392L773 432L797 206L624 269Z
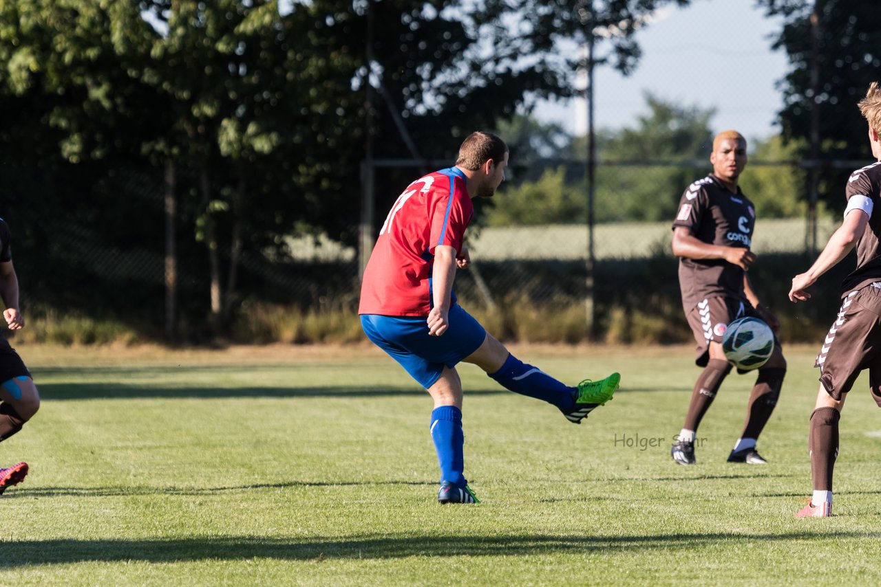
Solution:
M427 316L432 308L434 247L462 251L473 213L465 175L455 167L407 186L382 224L367 261L358 313Z

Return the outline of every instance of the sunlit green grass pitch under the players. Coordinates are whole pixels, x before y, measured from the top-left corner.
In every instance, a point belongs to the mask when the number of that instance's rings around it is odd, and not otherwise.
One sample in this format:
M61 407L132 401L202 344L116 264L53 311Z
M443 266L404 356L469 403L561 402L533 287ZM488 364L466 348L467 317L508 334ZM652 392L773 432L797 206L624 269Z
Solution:
M430 401L366 347L26 348L41 412L0 444L0 584L805 584L881 575L881 412L842 419L835 511L793 517L815 349L787 349L768 466L725 462L750 376L731 376L693 467L670 459L691 349L515 349L559 378L621 371L573 426L463 366L466 474L435 501ZM631 444L632 443L632 444ZM645 444L645 446L640 446ZM654 445L653 445L654 444Z

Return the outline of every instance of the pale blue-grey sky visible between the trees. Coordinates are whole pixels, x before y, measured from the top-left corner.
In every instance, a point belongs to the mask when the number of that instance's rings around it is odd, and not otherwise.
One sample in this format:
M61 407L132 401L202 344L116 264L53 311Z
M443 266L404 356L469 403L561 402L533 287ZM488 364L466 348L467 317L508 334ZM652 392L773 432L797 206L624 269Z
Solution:
M781 26L780 18L766 18L752 0L693 0L685 8L659 11L636 33L642 58L629 77L610 66L594 71L596 127L633 126L648 112L648 91L682 106L714 107L714 132L735 128L747 139L776 134L782 99L774 84L786 75L787 59L771 45ZM604 50L598 45L596 56ZM543 102L535 114L582 135L585 104L583 99Z

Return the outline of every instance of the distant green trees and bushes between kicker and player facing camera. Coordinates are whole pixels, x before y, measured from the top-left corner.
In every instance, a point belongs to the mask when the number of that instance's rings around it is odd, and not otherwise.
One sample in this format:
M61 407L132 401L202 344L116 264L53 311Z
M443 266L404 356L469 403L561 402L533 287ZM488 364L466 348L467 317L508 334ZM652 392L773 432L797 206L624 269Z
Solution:
M600 161L692 161L706 159L711 150L709 121L714 110L699 106L679 106L651 93L645 95L648 112L640 115L634 127L601 130L597 154ZM560 142L556 128L536 122L520 122L518 128L535 128L543 137L537 147ZM515 136L520 136L515 133ZM549 150L545 148L544 150ZM584 180L586 138L570 138L564 168L544 170L538 179L536 170L526 170L525 179L515 187L504 187L499 202L489 213L493 226L505 224L583 224L587 218L587 194ZM518 165L516 159L513 165ZM553 165L553 164L552 164ZM707 166L709 164L707 163ZM599 165L596 169L596 222L670 220L677 202L688 184L703 169L684 164L673 166ZM515 168L516 175L516 168Z

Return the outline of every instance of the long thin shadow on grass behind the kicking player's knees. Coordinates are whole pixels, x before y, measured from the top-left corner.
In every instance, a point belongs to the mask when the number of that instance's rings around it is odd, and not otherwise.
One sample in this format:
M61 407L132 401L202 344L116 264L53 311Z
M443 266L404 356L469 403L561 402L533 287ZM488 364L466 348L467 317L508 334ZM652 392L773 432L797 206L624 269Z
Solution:
M120 383L64 383L37 384L43 400L133 400L138 398L358 398L389 396L422 396L425 390L414 384L401 389L385 386L333 385L315 387L241 386L241 387L171 387L168 385L129 385ZM504 389L469 389L466 395L493 395L511 393Z

